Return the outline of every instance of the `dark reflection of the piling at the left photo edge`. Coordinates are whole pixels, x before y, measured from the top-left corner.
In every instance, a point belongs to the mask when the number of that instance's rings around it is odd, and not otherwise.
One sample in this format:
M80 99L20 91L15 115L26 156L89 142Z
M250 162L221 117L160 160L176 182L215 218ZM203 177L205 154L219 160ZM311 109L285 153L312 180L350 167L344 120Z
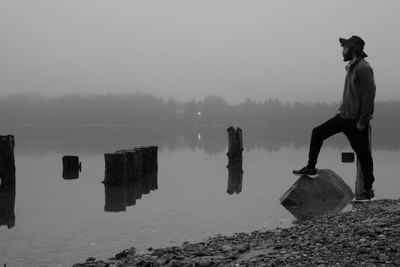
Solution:
M15 226L15 185L0 185L0 226Z

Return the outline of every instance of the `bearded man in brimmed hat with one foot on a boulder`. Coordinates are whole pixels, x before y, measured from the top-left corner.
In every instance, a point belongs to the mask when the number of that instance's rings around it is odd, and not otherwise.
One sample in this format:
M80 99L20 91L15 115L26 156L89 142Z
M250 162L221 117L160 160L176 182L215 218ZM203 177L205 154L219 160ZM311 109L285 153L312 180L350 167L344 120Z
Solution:
M338 114L315 127L312 131L308 163L302 169L294 170L298 175L317 174L318 154L325 139L337 133L344 133L356 153L364 176L364 192L356 201L372 199L373 161L369 146L369 122L374 112L375 81L371 66L365 60L364 41L358 36L349 39L339 38L343 47L343 61L346 66L346 79L343 101Z

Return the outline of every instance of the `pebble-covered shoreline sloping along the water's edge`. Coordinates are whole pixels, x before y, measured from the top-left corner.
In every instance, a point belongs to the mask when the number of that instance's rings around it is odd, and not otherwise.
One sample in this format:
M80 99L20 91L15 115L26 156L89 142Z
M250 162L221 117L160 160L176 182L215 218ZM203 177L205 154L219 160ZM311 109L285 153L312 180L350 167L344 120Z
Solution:
M125 266L400 266L400 199L353 204L350 211L289 228L216 235L197 243L130 248L73 267Z

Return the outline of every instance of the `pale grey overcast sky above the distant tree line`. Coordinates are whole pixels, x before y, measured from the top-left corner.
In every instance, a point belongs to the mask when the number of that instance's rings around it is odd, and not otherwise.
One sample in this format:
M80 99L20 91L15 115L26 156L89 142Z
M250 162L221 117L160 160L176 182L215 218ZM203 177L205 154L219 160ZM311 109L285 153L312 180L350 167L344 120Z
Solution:
M0 0L0 97L150 93L340 100L361 36L377 100L400 99L398 0Z

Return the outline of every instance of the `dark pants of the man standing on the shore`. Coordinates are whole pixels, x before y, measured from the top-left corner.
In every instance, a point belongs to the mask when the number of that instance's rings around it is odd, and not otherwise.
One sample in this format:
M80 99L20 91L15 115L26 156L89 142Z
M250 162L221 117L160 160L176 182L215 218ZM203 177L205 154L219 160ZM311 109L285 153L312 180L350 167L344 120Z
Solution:
M369 145L368 128L369 125L360 132L357 129L356 120L342 119L339 114L315 127L311 135L307 166L315 168L318 154L325 139L337 133L344 133L360 161L361 170L364 176L364 187L365 189L372 189L372 184L375 181L375 178L373 174L373 162Z

